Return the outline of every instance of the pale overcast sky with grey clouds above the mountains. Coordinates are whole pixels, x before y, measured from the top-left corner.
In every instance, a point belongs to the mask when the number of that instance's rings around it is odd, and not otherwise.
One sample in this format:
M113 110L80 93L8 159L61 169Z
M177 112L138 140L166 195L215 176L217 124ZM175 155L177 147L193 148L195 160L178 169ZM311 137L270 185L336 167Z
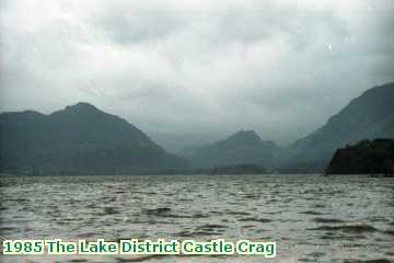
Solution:
M0 0L0 9L1 111L85 101L149 134L255 129L287 142L394 80L392 0Z

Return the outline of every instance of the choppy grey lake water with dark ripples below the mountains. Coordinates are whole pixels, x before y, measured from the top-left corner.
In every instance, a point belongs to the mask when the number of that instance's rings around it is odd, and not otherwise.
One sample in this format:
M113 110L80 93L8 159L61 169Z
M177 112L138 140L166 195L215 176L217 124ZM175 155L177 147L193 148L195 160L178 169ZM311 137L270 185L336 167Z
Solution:
M28 256L27 262L394 262L394 179L321 175L1 179L2 239L276 241L262 256ZM1 256L1 262L26 262Z

